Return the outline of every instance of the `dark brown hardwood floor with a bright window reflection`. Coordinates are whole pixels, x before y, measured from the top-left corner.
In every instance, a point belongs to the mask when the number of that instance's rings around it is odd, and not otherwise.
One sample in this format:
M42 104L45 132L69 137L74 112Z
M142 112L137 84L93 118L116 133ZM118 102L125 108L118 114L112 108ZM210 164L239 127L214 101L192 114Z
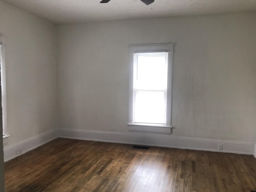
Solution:
M250 192L249 155L56 139L5 163L6 192Z

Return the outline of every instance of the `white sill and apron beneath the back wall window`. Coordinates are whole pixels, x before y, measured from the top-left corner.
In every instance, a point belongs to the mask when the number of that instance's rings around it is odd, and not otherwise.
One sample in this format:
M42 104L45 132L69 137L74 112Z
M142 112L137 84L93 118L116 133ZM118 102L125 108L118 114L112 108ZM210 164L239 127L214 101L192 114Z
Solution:
M160 133L160 134L171 134L172 126L164 125L148 125L148 124L130 124L128 123L128 130L134 132L149 132L149 133Z

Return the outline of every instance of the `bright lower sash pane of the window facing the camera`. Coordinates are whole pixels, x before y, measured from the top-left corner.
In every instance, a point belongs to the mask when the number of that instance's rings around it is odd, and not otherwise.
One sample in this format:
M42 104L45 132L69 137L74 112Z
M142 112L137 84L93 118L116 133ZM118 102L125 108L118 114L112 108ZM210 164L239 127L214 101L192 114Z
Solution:
M166 123L166 95L164 91L134 90L134 122Z

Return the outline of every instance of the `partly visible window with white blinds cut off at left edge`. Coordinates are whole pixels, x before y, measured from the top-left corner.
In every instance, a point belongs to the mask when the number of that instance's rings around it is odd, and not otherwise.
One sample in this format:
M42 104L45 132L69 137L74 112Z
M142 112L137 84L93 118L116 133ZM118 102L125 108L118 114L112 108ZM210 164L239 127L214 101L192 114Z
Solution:
M2 92L2 120L3 137L7 138L6 132L6 78L5 78L5 38L0 34L0 67L1 67L1 92ZM6 140L4 140L6 142ZM5 143L4 143L5 144Z

